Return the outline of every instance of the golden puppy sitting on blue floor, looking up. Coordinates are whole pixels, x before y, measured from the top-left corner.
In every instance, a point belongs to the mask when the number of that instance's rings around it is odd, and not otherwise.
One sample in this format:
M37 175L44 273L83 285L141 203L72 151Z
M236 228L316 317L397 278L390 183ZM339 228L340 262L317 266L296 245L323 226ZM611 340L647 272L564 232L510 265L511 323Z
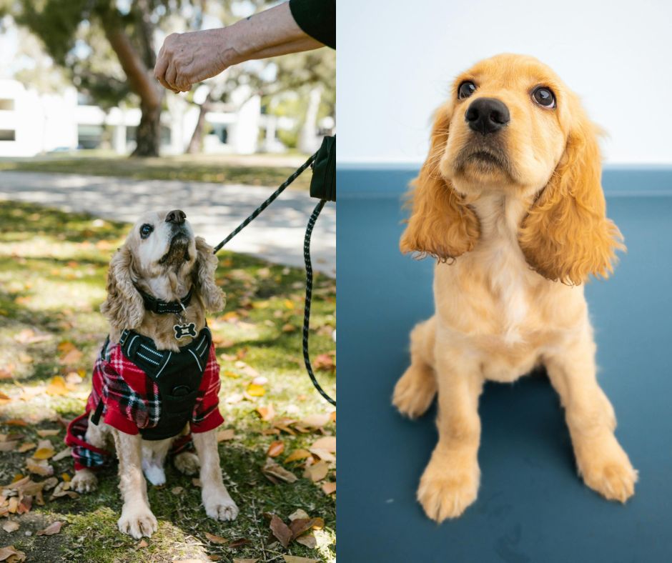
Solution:
M606 217L596 126L578 97L529 56L503 54L460 75L435 114L414 181L402 252L438 259L435 315L410 335L393 402L418 417L438 394L439 440L417 489L437 522L478 492L478 397L543 365L560 395L578 472L626 502L637 472L596 380L583 297L623 237Z

